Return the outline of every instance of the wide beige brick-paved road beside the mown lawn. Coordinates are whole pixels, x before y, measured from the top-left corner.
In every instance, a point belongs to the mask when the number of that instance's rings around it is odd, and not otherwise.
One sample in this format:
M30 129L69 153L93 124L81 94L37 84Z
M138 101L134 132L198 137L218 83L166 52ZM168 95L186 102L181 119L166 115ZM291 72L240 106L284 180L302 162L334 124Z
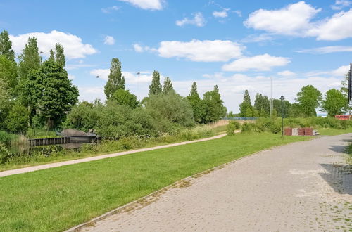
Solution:
M347 141L352 134L244 157L82 231L350 231Z

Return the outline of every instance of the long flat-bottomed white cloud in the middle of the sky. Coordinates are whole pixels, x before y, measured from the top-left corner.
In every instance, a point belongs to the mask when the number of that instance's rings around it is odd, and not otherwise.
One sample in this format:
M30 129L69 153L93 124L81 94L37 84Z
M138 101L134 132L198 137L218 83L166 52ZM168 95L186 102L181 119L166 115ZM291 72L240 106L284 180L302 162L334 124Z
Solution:
M162 41L158 53L164 58L186 58L191 61L214 62L239 58L244 46L230 40Z

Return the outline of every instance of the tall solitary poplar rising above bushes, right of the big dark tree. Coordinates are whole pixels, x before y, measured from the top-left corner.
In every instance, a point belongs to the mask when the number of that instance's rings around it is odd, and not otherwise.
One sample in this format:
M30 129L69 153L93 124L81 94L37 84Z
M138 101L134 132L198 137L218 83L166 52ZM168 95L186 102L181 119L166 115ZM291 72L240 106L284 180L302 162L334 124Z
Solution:
M108 82L106 82L104 87L106 100L109 100L118 89L125 89L125 77L122 77L120 60L113 58L111 60Z

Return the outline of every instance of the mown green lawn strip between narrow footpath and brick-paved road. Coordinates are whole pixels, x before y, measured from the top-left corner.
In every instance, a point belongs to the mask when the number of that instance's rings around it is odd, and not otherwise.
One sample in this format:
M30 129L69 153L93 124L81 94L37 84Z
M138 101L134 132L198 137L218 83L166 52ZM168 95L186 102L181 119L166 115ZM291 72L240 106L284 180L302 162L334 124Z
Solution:
M238 134L2 177L0 231L63 231L184 177L259 150L307 139Z

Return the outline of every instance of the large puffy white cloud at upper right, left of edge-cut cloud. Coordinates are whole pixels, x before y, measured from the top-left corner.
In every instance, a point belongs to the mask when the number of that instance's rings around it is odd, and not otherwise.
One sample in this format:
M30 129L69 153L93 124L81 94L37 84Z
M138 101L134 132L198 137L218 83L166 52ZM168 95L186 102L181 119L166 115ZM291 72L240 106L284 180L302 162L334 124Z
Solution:
M268 11L260 9L254 11L249 15L244 25L275 34L298 36L304 30L308 30L310 20L319 11L321 11L320 8L313 8L304 1L299 1L279 10Z

